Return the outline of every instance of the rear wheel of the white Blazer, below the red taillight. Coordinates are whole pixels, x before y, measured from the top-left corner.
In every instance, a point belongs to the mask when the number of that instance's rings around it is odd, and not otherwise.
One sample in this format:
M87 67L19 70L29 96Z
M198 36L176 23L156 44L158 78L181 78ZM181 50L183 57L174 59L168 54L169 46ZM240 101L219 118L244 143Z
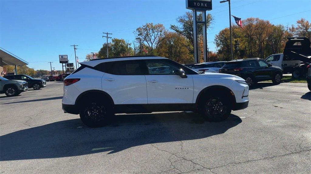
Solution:
M80 109L81 121L91 128L106 125L111 116L114 115L112 104L100 99L87 99Z

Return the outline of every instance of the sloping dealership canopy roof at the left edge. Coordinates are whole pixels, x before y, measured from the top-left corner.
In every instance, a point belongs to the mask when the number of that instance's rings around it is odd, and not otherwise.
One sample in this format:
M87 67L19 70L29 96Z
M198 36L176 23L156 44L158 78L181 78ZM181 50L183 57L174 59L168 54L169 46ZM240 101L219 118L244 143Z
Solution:
M2 65L28 65L28 62L0 47Z

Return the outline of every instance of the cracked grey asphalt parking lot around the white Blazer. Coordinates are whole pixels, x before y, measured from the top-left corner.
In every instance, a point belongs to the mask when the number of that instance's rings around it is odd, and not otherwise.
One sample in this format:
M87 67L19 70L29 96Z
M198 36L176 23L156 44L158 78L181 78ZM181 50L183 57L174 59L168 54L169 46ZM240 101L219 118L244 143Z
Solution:
M88 128L61 108L63 83L0 98L1 173L311 173L306 84L259 83L219 123L195 113L119 114Z

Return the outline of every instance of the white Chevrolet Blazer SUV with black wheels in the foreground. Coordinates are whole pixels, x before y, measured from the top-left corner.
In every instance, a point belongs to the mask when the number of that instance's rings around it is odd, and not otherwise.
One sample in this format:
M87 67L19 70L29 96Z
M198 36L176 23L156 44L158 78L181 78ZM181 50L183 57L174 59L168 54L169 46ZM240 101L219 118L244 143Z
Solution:
M65 113L100 127L115 113L199 111L225 120L248 106L248 85L234 75L199 74L170 59L128 56L81 62L64 80Z

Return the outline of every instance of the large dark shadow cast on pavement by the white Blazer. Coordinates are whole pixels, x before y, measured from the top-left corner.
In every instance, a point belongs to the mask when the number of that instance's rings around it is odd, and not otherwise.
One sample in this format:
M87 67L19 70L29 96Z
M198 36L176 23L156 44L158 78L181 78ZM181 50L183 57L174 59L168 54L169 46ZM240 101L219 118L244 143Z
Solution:
M231 114L211 123L186 112L115 115L102 128L88 128L80 119L64 120L1 136L0 161L106 155L140 145L207 138L241 122Z

